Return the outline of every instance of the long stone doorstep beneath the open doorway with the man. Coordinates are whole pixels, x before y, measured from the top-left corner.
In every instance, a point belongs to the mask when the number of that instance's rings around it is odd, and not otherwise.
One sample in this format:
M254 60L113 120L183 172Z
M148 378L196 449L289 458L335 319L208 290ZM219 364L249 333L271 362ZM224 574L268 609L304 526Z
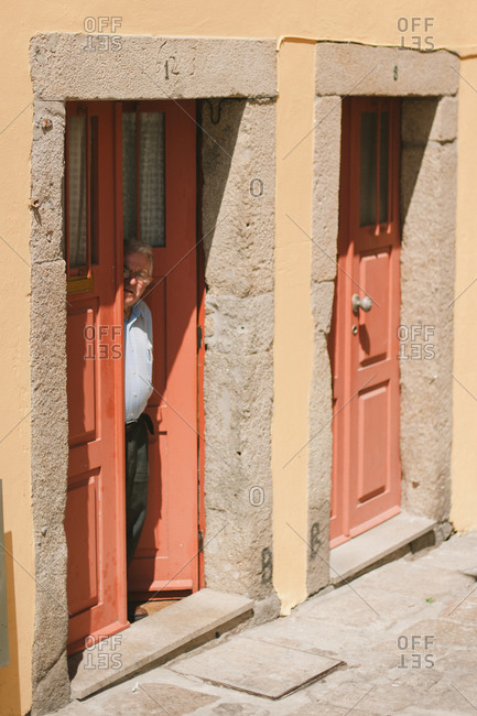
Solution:
M86 698L175 659L246 621L252 610L253 600L238 594L206 588L184 597L85 650L71 682L71 697Z

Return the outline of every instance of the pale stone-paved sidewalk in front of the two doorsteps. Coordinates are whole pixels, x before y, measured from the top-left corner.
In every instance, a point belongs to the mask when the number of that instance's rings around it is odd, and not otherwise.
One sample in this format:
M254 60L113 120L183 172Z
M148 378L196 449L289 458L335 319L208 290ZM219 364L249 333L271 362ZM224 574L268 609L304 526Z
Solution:
M57 713L477 715L476 567L454 535Z

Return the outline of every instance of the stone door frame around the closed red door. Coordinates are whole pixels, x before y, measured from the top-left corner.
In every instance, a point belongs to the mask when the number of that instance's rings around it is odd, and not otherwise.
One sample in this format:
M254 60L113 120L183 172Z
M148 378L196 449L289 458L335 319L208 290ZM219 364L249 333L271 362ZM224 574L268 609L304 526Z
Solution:
M333 411L327 336L336 276L342 99L348 96L402 98L400 324L409 332L402 332L401 349L410 356L414 344L414 354L427 345L434 357L400 361L401 505L438 523L448 519L458 66L458 57L444 50L333 42L316 46L310 435L323 430L308 446L310 544L319 534L319 554L308 551L308 594L329 583ZM418 326L414 335L411 326Z

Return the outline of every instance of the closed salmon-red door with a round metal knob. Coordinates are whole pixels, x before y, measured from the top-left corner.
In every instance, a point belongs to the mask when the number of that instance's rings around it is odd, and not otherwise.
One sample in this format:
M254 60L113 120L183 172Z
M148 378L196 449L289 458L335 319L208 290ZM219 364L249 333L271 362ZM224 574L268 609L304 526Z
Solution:
M399 100L343 102L330 545L400 511Z

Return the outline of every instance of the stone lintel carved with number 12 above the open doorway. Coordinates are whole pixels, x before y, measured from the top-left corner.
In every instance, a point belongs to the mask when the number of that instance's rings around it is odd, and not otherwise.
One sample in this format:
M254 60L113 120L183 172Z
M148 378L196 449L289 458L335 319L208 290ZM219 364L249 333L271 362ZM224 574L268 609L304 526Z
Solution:
M274 97L273 40L39 34L30 44L42 99Z

